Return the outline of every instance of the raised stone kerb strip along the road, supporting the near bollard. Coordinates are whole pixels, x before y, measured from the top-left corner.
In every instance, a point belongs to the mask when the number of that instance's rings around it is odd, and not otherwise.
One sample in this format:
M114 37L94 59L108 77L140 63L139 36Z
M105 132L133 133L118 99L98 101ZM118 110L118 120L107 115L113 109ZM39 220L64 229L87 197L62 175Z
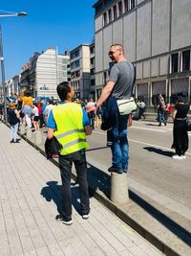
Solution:
M47 128L41 129L42 142L35 145L35 135L23 136L36 149L44 154L44 142ZM87 151L88 181L92 195L102 202L122 221L130 225L143 238L154 244L161 252L169 256L188 256L191 251L191 214L188 207L178 205L171 198L162 197L156 191L135 183L128 176L129 201L116 205L110 200L111 175L107 165L100 164ZM57 161L53 160L54 165ZM73 178L76 179L73 170Z

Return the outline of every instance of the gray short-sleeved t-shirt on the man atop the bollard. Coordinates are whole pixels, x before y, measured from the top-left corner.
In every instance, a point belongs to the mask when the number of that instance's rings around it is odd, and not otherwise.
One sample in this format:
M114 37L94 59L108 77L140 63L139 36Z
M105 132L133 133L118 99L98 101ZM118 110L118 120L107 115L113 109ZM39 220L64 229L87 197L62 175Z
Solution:
M129 61L118 61L111 69L109 81L114 81L111 96L117 100L128 99L132 95L135 77L134 65Z

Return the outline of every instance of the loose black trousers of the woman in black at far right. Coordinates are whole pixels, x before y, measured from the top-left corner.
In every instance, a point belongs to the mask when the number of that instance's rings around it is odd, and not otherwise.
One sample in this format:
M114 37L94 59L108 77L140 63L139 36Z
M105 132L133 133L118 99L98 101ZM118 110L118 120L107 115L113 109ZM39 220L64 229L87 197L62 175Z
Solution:
M184 154L188 150L188 133L186 120L175 120L173 128L174 147L177 154Z

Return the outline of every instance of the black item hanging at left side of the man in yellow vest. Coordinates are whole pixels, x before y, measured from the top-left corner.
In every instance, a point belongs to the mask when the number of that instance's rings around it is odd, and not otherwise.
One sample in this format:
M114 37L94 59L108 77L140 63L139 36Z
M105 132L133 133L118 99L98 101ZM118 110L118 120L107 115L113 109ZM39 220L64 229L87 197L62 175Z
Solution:
M45 142L45 152L47 155L47 159L57 158L62 149L61 144L58 140L53 136L52 139L47 138Z

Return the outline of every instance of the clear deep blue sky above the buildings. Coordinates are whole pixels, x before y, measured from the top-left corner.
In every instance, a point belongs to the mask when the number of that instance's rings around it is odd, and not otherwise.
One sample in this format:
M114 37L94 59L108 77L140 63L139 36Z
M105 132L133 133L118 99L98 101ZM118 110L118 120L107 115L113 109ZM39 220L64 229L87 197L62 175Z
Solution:
M64 53L81 43L91 43L95 3L96 0L0 0L1 11L28 13L25 17L0 17L6 80L20 73L33 52L57 46L58 52Z

